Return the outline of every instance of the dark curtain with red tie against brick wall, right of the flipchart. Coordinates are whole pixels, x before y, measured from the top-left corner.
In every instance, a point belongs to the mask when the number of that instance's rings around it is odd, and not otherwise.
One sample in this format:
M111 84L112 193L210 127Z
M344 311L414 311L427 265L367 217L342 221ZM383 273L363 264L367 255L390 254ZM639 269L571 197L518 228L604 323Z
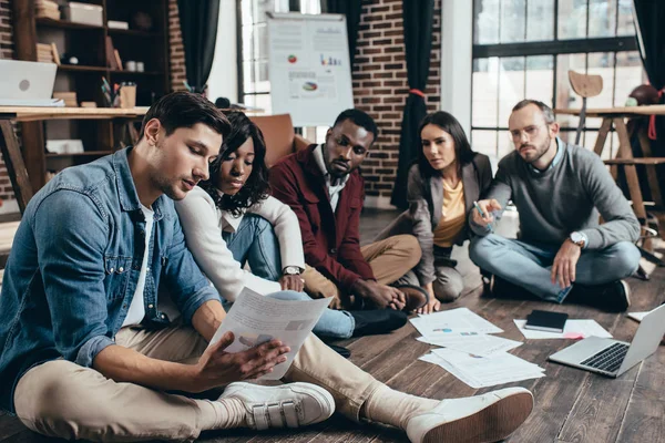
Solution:
M403 0L405 47L407 55L407 76L409 96L405 105L401 135L399 140L399 163L397 178L390 203L406 208L407 176L409 167L418 158L420 146L418 126L427 115L426 97L422 91L427 85L432 48L433 0Z

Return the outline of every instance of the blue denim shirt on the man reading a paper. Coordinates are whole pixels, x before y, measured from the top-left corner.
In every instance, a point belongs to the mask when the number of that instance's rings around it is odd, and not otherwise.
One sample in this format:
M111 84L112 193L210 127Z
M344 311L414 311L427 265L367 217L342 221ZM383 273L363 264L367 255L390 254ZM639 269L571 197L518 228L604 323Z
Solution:
M145 218L130 148L64 169L32 197L14 237L0 295L0 409L30 368L64 358L91 367L114 344L145 253ZM173 200L161 196L150 241L143 324L163 327L157 287L191 322L219 300L185 246Z

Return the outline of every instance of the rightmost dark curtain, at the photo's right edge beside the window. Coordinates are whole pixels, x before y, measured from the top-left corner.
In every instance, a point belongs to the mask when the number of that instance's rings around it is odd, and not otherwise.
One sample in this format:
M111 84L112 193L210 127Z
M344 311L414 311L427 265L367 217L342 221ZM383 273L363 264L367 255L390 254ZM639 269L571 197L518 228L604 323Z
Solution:
M656 90L661 92L659 103L665 104L665 1L654 0L634 0L635 22L640 33L638 43L641 43L640 55L642 64L648 76L648 81ZM652 155L655 157L665 156L665 117L653 116L646 122L638 122L638 125L648 125L648 134L652 138ZM636 136L632 141L633 151L641 148ZM661 183L661 194L665 190L665 168L657 166L658 181ZM643 177L643 175L641 175Z

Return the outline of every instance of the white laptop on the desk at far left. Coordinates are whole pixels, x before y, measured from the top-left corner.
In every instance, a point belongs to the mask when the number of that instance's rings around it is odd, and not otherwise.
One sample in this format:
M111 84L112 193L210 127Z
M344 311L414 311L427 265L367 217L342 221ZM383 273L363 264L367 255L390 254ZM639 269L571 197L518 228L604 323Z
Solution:
M0 106L63 106L52 99L55 63L0 60Z

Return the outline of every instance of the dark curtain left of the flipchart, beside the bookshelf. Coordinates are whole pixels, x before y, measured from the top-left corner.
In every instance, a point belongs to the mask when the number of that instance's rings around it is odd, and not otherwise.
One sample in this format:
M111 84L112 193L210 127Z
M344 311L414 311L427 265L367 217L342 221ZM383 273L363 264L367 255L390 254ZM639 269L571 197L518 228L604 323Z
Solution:
M177 0L177 10L187 83L193 92L202 93L215 56L219 0Z

